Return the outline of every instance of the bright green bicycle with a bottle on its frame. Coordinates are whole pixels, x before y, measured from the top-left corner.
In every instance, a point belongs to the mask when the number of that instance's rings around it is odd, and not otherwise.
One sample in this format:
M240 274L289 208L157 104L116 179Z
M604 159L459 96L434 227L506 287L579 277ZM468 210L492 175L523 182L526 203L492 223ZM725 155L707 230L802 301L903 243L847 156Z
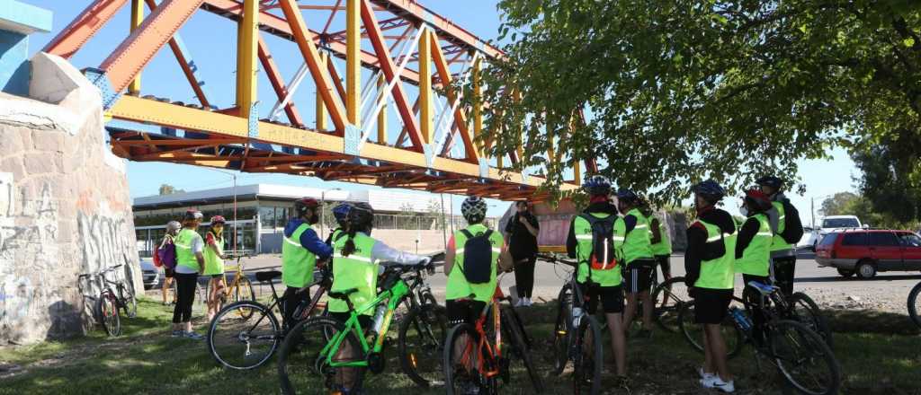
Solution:
M340 322L332 317L315 317L298 322L285 337L278 357L278 377L282 392L294 394L317 393L317 375L325 378L326 388L361 389L365 369L378 374L384 370L385 340L394 310L410 294L404 274L419 275L420 267L391 266L384 275L383 289L377 298L363 306L354 306L348 298L356 288L328 292L333 299L343 299L348 305L349 319ZM363 313L376 312L370 328L363 328L359 318ZM365 314L367 317L367 314ZM367 332L366 332L367 329ZM443 339L438 339L443 342ZM415 355L418 358L422 355ZM431 361L414 361L417 365L440 367L433 354Z

